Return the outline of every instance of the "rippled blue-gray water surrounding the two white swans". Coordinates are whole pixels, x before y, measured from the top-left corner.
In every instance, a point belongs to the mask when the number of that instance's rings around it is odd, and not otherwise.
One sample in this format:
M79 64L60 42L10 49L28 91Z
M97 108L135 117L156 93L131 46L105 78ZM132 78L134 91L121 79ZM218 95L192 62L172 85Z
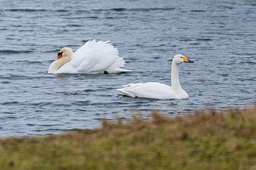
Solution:
M201 108L255 102L256 1L3 1L0 0L0 137L97 128L100 119L130 118L152 109L180 115ZM61 46L111 40L129 74L53 75ZM131 82L171 84L180 67L188 100L119 96Z

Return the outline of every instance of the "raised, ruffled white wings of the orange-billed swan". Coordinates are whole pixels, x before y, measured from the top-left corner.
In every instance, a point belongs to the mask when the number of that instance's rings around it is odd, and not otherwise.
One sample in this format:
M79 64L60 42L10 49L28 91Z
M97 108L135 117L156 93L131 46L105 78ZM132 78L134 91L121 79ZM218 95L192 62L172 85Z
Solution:
M90 40L74 53L70 64L77 72L97 74L110 67L122 67L125 62L118 56L118 50L109 41Z

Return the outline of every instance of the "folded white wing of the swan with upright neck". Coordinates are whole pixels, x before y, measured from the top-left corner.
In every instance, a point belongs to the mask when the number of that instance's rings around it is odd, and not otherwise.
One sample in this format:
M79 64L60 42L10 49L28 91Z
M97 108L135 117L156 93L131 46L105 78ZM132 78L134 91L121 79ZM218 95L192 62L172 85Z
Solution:
M176 93L171 86L157 82L127 84L122 89L117 89L122 94L130 97L170 99L176 98Z

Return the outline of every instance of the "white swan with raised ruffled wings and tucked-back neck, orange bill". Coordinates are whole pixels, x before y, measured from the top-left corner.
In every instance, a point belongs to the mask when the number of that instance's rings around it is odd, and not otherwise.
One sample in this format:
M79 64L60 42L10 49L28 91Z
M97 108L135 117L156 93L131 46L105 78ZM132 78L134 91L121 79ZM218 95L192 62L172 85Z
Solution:
M109 41L90 40L75 53L69 47L63 47L58 52L58 58L48 69L49 74L58 73L121 73L132 70L121 69L124 59L118 56L118 50Z

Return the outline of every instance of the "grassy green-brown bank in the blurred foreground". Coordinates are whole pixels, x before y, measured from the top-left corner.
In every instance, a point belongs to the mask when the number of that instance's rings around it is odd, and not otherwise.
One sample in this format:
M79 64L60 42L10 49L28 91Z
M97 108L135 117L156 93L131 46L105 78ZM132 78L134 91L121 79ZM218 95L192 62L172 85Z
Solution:
M256 109L0 140L0 169L256 169Z

